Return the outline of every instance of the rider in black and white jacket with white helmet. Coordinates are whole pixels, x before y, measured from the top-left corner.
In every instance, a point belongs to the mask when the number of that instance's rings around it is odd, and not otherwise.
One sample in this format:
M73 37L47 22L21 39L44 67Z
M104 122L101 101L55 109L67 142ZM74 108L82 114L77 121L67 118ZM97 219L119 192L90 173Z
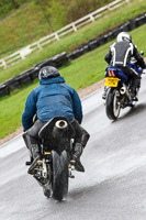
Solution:
M139 55L137 47L132 42L132 36L127 32L121 32L117 35L117 42L110 46L109 53L105 55L105 62L117 68L132 79L131 96L136 97L136 88L141 87L141 76L130 67L131 58L134 57L137 64L144 69L146 68L143 57ZM104 88L104 94L102 98L106 97L106 88Z

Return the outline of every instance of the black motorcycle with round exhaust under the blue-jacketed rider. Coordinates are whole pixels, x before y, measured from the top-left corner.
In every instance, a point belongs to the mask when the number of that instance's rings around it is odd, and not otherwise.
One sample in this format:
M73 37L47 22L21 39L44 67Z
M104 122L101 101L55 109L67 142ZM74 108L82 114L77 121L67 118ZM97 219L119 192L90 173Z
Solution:
M43 187L44 195L63 200L68 194L68 178L74 178L70 165L75 130L64 117L48 121L38 133L42 160L33 177ZM30 162L26 163L30 165Z

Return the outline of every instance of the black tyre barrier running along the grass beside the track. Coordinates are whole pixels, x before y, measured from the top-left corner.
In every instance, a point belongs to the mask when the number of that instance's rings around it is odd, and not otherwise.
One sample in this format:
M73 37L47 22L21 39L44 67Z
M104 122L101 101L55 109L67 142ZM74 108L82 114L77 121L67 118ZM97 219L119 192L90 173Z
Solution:
M132 31L139 25L143 25L146 23L146 13L130 20L126 23L121 24L120 26L110 30L106 34L101 35L98 38L93 38L89 41L87 44L80 45L76 51L67 55L66 52L63 52L61 54L57 54L54 57L50 57L48 59L45 59L38 64L36 64L33 68L20 74L19 76L9 79L4 84L0 85L0 97L7 96L10 94L10 91L14 89L21 88L23 85L29 85L33 81L34 78L38 77L38 72L43 66L54 66L54 67L60 67L65 64L67 64L71 59L76 59L82 54L90 52L94 48L97 48L100 45L105 44L109 41L112 41L116 37L116 35L122 31Z

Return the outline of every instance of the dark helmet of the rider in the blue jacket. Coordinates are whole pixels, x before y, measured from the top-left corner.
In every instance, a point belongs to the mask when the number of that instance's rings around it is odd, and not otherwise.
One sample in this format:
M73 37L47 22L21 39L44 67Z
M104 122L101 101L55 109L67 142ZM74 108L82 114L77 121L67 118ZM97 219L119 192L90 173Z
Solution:
M38 79L47 79L57 76L60 76L58 69L56 69L54 66L44 66L40 70Z

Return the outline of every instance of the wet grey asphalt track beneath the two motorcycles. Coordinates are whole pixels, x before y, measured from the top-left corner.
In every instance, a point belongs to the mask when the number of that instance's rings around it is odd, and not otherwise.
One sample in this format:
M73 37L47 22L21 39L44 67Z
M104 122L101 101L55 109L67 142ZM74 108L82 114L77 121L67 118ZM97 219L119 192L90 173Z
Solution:
M65 201L46 199L26 174L20 136L0 146L0 220L146 219L146 77L137 106L116 122L105 116L102 91L82 100L82 125L91 134L81 157L86 173L75 172Z

